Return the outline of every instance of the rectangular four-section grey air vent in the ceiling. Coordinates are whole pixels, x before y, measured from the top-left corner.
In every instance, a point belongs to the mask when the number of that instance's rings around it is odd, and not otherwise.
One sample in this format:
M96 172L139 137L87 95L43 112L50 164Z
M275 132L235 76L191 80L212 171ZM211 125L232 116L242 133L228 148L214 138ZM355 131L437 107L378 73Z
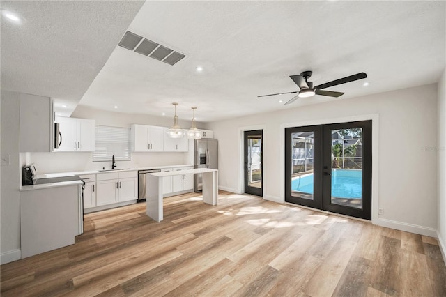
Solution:
M150 56L158 61L163 61L169 65L174 65L185 58L184 54L180 54L169 49L169 47L164 47L159 43L155 43L130 31L125 32L118 45L138 54L144 54L144 56Z

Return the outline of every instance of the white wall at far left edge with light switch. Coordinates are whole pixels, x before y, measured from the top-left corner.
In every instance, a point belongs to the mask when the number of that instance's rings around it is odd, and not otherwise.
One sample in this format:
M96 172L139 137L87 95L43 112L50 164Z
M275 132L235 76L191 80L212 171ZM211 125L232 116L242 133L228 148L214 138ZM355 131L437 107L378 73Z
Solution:
M19 116L19 93L2 90L1 157L10 156L10 165L1 166L1 264L20 259Z

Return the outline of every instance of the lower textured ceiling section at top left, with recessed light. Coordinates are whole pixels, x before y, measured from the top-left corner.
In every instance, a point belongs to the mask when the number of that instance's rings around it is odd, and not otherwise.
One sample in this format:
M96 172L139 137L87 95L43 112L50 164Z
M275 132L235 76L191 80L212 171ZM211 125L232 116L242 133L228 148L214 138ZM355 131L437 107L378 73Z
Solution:
M1 1L1 89L74 109L144 1Z

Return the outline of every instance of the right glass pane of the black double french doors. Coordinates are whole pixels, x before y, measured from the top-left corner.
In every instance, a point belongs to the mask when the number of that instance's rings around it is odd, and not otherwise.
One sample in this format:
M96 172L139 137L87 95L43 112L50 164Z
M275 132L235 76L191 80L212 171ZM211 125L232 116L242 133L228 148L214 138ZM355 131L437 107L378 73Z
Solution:
M362 209L362 128L332 130L332 204Z

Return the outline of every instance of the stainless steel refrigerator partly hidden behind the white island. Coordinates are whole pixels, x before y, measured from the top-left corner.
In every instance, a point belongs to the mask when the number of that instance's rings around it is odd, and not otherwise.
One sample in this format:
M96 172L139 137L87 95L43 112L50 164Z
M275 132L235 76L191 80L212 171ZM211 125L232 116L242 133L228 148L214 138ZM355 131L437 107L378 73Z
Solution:
M195 139L194 168L218 169L217 139ZM194 192L203 191L203 174L194 174Z

